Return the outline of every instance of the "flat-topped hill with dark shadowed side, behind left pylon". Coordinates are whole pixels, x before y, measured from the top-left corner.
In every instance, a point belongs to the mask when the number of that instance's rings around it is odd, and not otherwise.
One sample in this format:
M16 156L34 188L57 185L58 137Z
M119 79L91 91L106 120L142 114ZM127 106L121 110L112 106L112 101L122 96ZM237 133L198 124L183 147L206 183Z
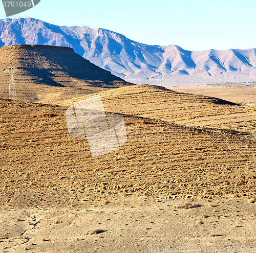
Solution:
M119 77L74 53L50 45L12 45L0 48L0 97L8 98L8 67L17 68L17 99L52 102L127 85Z

